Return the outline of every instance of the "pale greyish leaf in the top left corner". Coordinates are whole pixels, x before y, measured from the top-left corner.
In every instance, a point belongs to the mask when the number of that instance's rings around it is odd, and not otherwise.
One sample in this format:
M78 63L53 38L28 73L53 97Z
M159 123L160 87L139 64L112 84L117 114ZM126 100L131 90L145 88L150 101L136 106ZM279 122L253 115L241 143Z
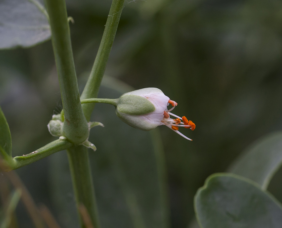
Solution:
M48 14L38 0L0 2L0 49L30 47L50 36Z

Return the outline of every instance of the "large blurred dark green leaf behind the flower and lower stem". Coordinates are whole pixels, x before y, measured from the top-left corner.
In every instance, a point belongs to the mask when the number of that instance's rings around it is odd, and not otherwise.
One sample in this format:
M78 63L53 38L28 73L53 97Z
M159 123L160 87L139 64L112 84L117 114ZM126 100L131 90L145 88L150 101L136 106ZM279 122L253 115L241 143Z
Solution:
M99 97L117 98L123 92L101 87ZM167 227L168 210L159 179L162 171L154 151L158 142L152 141L150 132L120 121L111 105L96 104L92 120L105 125L93 128L89 138L97 147L89 156L101 227ZM67 156L57 153L52 158L52 192L59 216L64 217L66 227L77 227Z

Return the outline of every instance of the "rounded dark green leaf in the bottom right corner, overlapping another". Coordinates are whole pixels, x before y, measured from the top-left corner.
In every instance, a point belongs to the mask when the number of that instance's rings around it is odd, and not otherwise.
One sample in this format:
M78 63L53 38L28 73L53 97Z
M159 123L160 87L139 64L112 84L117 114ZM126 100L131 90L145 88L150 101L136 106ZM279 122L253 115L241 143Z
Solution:
M255 182L234 174L213 174L195 195L203 228L279 228L281 204Z

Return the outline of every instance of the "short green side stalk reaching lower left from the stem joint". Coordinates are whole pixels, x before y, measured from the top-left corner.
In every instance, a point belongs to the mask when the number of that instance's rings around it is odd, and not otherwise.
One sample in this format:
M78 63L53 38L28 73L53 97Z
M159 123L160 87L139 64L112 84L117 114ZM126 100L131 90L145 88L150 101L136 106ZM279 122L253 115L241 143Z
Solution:
M33 162L36 162L42 158L45 158L53 153L59 152L61 150L65 150L71 147L71 144L67 140L57 139L47 145L39 148L38 150L31 152L30 154L26 154L23 156L16 156L13 158L12 168L18 169L22 166L26 166Z

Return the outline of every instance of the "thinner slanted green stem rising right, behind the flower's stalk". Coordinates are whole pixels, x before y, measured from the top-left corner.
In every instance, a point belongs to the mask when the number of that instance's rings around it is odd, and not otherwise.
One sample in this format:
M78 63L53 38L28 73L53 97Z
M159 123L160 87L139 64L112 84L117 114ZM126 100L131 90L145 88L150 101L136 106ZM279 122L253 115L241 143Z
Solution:
M113 0L110 13L106 22L102 40L95 58L89 79L81 94L81 99L97 97L99 87L106 69L107 61L112 49L116 30L122 14L124 0ZM95 104L83 104L83 112L86 119L90 120L90 115Z

